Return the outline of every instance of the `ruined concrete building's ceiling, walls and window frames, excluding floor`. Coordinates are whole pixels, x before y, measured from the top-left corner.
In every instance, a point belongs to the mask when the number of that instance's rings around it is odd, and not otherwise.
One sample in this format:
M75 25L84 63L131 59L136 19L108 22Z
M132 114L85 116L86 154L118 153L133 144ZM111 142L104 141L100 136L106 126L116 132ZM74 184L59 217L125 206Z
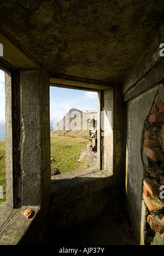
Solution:
M7 201L0 245L42 245L125 194L138 245L164 245L164 1L0 2ZM98 92L97 166L50 174L49 86ZM97 126L100 126L99 122ZM25 210L34 216L26 219Z

